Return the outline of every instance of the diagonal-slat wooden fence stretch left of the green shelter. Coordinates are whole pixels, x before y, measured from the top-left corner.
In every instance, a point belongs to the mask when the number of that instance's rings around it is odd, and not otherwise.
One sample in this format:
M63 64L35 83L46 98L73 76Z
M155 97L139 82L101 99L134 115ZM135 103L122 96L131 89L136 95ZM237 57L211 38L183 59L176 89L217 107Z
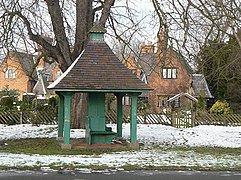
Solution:
M0 111L0 124L56 124L55 111Z

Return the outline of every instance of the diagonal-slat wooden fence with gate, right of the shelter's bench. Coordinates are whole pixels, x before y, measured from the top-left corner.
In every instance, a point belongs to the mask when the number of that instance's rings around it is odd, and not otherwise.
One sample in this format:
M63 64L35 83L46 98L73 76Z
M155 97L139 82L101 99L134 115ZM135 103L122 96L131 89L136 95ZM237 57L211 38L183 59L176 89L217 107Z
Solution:
M123 122L129 123L130 117L123 115ZM116 123L117 113L111 110L106 113L107 122ZM174 127L191 127L192 115L191 112L181 111L175 114L171 113L138 113L137 122L139 124L163 124ZM196 114L194 125L223 125L223 126L241 126L241 115L228 114L228 115L211 115L207 112Z

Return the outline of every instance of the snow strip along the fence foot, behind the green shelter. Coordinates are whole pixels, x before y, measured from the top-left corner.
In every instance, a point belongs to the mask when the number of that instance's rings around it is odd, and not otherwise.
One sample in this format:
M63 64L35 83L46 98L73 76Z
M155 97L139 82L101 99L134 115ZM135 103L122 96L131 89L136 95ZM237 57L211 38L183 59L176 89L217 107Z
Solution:
M108 125L116 131L116 125ZM30 124L0 125L0 141L21 138L51 138L57 136L57 125ZM84 129L71 129L71 138L84 138ZM130 124L123 124L123 136L130 137ZM241 147L241 127L197 126L193 128L173 128L157 124L138 124L137 138L145 145L177 145L208 147Z

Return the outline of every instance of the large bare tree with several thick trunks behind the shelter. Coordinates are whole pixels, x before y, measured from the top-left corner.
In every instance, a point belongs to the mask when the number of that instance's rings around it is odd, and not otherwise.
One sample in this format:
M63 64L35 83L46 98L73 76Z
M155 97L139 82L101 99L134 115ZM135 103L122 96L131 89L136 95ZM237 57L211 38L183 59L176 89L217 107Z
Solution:
M0 0L0 48L54 59L65 71L83 51L96 14L109 37L131 48L130 39L141 28L134 0ZM117 5L115 5L117 4ZM48 41L46 39L52 39ZM41 47L41 48L39 48ZM75 94L72 100L72 127L83 126L86 116L86 94ZM82 99L82 101L79 101ZM79 110L81 109L81 110Z

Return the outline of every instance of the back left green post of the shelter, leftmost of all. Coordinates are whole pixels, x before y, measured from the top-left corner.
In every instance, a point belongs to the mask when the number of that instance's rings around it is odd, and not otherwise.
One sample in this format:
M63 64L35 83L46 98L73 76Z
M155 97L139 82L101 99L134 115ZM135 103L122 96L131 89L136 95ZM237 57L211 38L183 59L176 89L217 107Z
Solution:
M58 93L58 137L63 137L64 130L64 96Z

